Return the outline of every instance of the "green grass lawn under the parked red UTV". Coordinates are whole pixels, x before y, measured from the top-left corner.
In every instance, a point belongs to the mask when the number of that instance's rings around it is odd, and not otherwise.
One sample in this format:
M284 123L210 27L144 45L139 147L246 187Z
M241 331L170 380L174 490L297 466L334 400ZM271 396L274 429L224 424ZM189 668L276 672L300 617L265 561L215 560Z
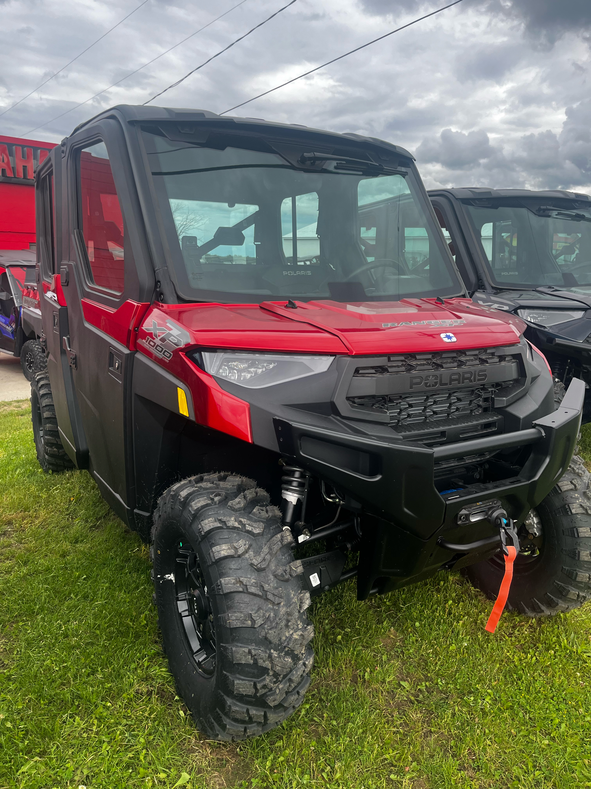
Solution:
M591 431L584 436L591 450ZM147 548L0 406L0 787L591 787L591 607L504 614L455 574L314 604L303 709L237 746L191 725Z

